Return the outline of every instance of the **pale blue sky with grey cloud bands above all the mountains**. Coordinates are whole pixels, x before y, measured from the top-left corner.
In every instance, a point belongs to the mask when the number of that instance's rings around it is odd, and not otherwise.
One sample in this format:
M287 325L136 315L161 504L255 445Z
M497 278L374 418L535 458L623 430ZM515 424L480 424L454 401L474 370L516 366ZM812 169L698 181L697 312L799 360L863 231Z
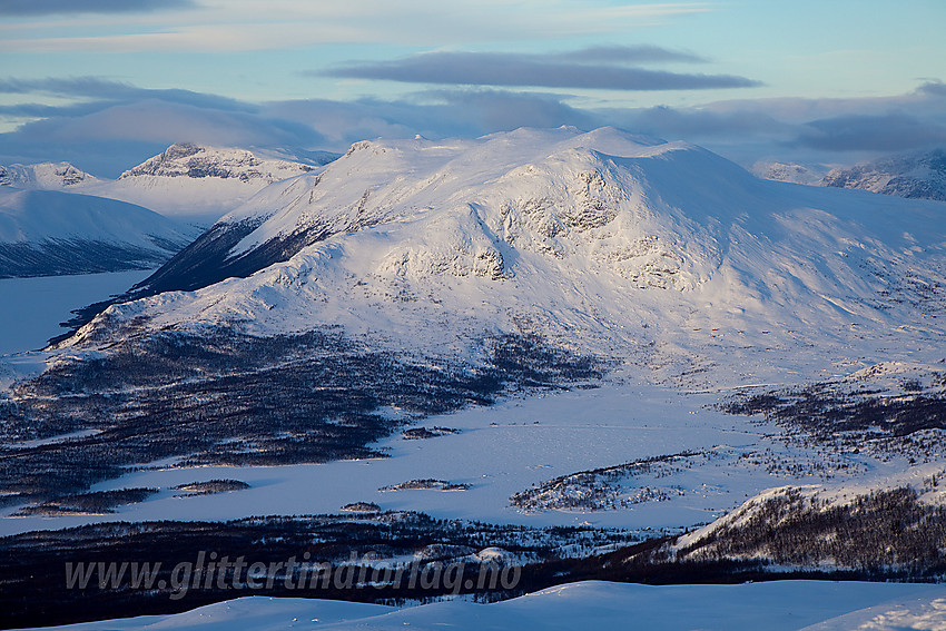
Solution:
M760 159L946 145L943 0L0 0L0 164L612 125Z

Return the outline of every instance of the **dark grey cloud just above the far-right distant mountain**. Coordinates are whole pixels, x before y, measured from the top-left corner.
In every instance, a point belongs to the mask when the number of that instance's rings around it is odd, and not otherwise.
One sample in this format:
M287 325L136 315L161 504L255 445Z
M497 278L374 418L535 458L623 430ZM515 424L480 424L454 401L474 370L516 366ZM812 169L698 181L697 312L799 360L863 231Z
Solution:
M812 120L796 144L828 151L905 151L946 142L946 126L901 112Z

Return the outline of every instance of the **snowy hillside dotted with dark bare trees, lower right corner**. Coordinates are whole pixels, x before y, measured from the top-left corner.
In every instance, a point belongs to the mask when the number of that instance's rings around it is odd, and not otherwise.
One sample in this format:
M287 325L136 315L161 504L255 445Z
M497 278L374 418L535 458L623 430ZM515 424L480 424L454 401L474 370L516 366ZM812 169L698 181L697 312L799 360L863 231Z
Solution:
M770 489L681 536L672 550L691 561L765 559L772 572L909 568L942 545L944 476L938 462L870 481Z

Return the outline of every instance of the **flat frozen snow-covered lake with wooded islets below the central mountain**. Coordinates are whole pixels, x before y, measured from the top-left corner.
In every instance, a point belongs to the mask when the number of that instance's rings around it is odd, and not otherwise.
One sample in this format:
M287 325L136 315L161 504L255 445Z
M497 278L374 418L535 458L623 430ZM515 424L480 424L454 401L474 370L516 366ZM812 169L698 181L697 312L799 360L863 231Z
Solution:
M906 466L898 457L883 462L867 454L830 454L788 444L768 423L710 407L722 395L612 383L431 417L424 427L457 433L423 440L391 436L377 444L388 454L383 459L244 467L151 463L91 489L158 490L144 502L100 515L13 516L17 507L9 506L0 512L0 535L102 521L336 513L355 502L441 519L676 533L711 522L768 487L849 483L855 476L876 479ZM565 480L548 486L559 476L627 463L633 470L633 463L653 459L638 465L639 471L622 474L597 505L581 500L569 505L574 502L570 497L600 486L594 481ZM237 480L249 487L201 495L175 489L213 480ZM434 482L404 484L412 481ZM453 489L444 490L440 482ZM402 486L392 489L397 485ZM540 497L524 506L511 504L515 493L533 485L544 485Z

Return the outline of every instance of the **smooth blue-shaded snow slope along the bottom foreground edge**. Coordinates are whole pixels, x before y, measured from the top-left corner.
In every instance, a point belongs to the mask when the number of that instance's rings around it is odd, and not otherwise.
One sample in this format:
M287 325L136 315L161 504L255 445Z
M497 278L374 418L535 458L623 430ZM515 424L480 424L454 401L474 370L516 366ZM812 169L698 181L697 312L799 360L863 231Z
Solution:
M938 585L782 581L738 585L582 582L493 604L438 602L395 609L306 599L243 598L174 615L89 622L50 630L242 631L282 629L942 629Z

